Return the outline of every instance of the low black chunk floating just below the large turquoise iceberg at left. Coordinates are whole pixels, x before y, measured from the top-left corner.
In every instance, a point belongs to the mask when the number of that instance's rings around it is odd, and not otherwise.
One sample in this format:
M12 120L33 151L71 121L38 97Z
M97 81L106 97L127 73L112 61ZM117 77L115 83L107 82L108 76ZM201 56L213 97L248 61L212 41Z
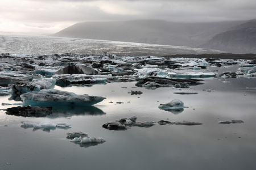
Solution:
M13 107L7 108L6 114L24 117L46 117L52 114L52 107Z

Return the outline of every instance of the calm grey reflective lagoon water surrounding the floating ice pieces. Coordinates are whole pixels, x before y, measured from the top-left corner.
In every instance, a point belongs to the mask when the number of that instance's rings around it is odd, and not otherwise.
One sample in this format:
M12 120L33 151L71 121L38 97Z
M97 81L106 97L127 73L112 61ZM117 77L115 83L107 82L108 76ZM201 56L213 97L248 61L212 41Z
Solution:
M254 169L256 167L256 79L205 79L191 86L197 95L173 94L172 88L147 90L136 82L92 87L58 87L107 99L89 109L67 108L44 118L9 116L0 111L0 169ZM211 92L203 91L213 89ZM131 90L142 95L130 95ZM185 89L187 90L187 89ZM20 103L1 96L1 103ZM188 108L179 114L160 110L177 98ZM109 103L113 101L113 103ZM116 102L121 101L122 104ZM1 108L15 107L5 105ZM69 108L70 109L70 108ZM107 130L101 126L123 117L137 121L194 121L203 125L159 125ZM243 124L218 124L242 120ZM70 129L24 129L20 121L68 122ZM5 126L7 125L7 126ZM67 132L83 131L106 140L97 146L69 142Z

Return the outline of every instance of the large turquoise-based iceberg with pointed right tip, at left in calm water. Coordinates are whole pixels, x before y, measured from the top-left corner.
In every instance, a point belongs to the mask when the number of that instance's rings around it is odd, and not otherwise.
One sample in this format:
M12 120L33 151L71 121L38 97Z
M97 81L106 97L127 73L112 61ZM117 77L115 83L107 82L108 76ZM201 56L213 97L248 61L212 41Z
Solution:
M52 107L59 105L90 106L106 99L101 96L76 95L73 92L60 91L56 89L44 89L39 92L27 92L20 95L23 105Z

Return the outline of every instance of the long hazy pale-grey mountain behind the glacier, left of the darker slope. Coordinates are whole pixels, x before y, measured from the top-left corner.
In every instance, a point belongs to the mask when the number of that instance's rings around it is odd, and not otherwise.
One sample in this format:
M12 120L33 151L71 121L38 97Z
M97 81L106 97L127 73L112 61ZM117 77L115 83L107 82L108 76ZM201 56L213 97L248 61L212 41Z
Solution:
M197 47L206 44L214 35L242 23L178 23L166 20L84 22L65 28L53 36Z

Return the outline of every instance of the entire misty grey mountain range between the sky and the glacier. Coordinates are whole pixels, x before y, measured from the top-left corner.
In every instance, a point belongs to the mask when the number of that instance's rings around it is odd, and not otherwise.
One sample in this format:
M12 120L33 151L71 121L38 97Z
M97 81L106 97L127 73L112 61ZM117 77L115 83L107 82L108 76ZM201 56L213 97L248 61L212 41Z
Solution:
M84 22L53 36L139 42L256 53L256 20L215 23L177 23L166 20Z

